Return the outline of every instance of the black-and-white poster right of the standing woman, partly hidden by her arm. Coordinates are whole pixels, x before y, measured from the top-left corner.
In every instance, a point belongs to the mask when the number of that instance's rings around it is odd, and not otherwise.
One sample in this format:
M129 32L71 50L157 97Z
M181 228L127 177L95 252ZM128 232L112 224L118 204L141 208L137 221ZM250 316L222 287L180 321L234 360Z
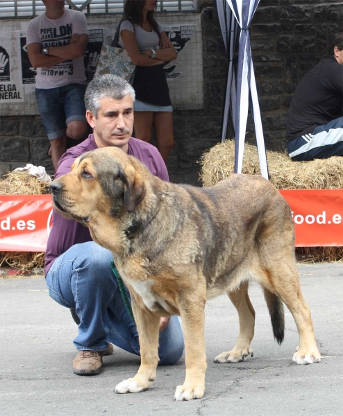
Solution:
M180 53L186 43L192 38L195 31L195 25L181 24L181 25L164 25L163 29L173 44L176 53ZM165 76L167 80L172 80L181 76L182 72L175 71L178 67L178 62L166 62L164 65Z

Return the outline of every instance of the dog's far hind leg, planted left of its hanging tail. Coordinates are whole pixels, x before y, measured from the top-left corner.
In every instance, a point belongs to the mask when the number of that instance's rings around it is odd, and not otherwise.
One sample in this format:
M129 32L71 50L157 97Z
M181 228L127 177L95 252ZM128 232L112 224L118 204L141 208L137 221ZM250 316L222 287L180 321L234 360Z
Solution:
M222 352L216 356L215 363L238 363L243 361L249 354L253 356L250 344L255 329L255 310L249 299L248 286L248 282L244 281L237 291L228 293L228 297L230 297L238 312L240 334L235 347L231 351Z

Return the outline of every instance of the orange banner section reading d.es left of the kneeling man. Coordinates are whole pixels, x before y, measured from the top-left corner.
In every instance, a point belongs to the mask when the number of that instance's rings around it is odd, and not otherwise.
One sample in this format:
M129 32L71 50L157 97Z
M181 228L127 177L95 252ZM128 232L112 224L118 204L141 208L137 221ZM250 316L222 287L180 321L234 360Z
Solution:
M51 195L1 195L0 251L44 252L51 214Z

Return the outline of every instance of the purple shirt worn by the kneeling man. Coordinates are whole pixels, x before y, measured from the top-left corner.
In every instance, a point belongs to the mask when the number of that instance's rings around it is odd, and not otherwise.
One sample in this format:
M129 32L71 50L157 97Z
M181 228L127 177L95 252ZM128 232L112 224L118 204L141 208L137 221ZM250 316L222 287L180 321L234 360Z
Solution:
M95 143L94 135L90 135L85 141L78 146L70 148L62 155L60 162L58 163L58 169L55 175L55 179L68 173L74 160L83 155L83 153L90 150L97 149L98 146ZM149 171L153 175L160 177L162 180L169 181L167 168L165 162L158 153L156 147L152 146L145 141L135 139L131 137L128 141L128 155L132 155L140 159ZM47 242L47 250L45 253L45 274L47 274L53 261L59 257L62 253L66 252L72 245L85 243L86 241L92 241L89 229L82 224L74 220L66 220L59 214L53 211L53 225L49 234Z

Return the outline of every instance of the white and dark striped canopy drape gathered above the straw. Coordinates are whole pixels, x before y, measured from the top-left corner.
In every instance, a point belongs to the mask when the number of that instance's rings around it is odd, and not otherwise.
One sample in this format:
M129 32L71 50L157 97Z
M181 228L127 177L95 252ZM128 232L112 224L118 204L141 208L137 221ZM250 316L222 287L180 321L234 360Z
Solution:
M260 105L258 103L258 93L256 87L255 72L253 70L253 60L251 55L249 35L249 25L256 11L256 8L258 7L258 3L260 3L260 0L226 1L228 6L230 6L233 15L235 16L238 26L240 26L240 46L238 51L237 65L237 94L235 100L235 173L242 173L246 121L248 119L250 101L251 112L253 114L253 122L255 125L261 175L266 179L269 179L267 155L265 151L265 139L263 137ZM219 3L221 3L221 0L217 0L217 6ZM221 21L223 17L226 17L224 12L223 15L219 17L219 21ZM224 42L227 42L225 41L225 36ZM232 42L232 45L234 48L235 43ZM233 56L233 51L231 52L232 53L230 53L230 56Z

